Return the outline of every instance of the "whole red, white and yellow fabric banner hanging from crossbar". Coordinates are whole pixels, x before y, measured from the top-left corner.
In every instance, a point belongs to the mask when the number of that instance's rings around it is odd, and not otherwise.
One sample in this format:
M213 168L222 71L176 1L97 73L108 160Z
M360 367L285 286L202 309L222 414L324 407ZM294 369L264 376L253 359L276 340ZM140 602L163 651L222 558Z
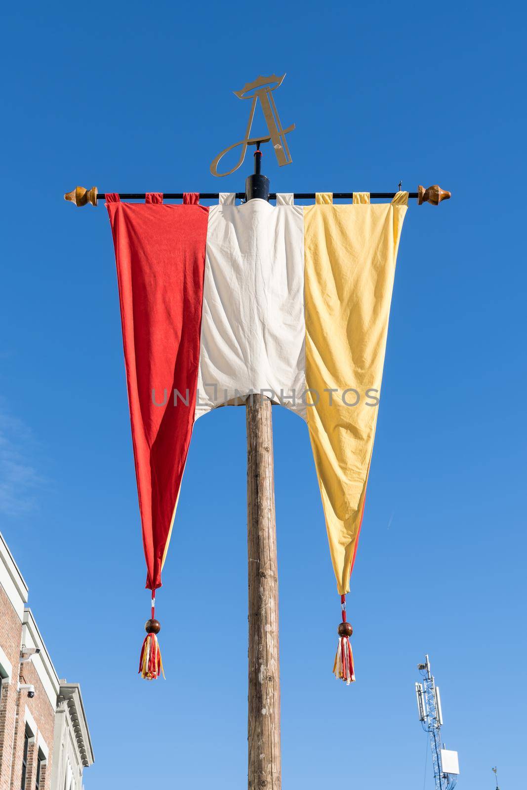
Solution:
M147 565L161 585L195 419L250 393L306 420L337 587L348 592L408 205L107 194ZM345 663L345 662L344 662Z

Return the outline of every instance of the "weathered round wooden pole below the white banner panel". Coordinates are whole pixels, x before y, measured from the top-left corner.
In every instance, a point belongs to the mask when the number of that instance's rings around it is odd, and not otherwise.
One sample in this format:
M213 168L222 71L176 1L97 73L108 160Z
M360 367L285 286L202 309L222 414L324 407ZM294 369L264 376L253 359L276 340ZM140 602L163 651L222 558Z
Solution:
M247 410L249 577L249 790L280 790L280 656L277 526L271 401L254 394Z

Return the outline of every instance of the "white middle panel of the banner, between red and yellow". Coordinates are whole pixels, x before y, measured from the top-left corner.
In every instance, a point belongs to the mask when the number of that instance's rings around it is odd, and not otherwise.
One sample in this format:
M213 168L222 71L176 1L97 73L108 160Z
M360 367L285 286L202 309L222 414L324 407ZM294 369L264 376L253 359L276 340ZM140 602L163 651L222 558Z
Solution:
M263 390L306 419L303 206L209 209L196 418Z

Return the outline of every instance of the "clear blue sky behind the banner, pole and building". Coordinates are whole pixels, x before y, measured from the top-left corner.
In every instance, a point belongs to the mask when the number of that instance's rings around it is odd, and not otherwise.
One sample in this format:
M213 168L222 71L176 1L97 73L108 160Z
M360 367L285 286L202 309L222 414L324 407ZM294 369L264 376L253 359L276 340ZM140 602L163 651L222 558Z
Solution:
M424 653L460 787L491 790L494 764L503 790L525 783L524 25L525 6L508 2L7 13L1 524L58 674L82 685L87 790L246 784L245 414L220 409L194 431L158 594L167 680L144 683L110 228L102 205L62 194L242 190L249 159L209 174L245 128L232 91L284 71L293 164L265 157L273 190L402 179L453 193L438 209L412 202L405 221L348 606L350 688L331 674L339 600L307 430L273 409L284 788L431 790L413 692Z

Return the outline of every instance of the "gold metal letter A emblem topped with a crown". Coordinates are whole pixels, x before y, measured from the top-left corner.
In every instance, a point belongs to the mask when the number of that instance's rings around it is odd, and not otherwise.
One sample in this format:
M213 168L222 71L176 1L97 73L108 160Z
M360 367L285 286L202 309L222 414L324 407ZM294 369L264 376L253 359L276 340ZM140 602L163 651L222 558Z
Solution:
M270 77L258 77L258 80L254 82L247 83L244 85L241 91L235 91L235 96L238 96L239 99L252 99L253 102L250 105L250 113L249 113L249 122L247 123L247 130L245 133L245 137L243 140L240 140L237 143L233 143L229 145L227 149L220 152L216 159L213 161L213 164L210 166L210 171L213 175L230 175L235 170L238 170L240 164L243 163L245 159L245 152L247 151L247 145L254 145L254 143L260 142L269 142L269 140L273 141L273 149L277 155L278 164L280 167L284 164L291 164L292 158L291 154L289 153L288 142L285 139L285 135L288 132L292 132L295 128L295 124L292 123L291 126L288 126L287 129L282 129L282 125L280 123L280 118L278 117L277 105L274 103L273 99L273 91L277 88L280 88L282 81L284 80L285 74L282 74L281 77L277 77L276 74L272 74ZM254 91L254 93L250 93ZM267 123L267 128L269 130L269 137L249 137L250 135L250 127L252 126L252 122L254 119L254 110L256 109L256 103L260 100L262 104L262 110L265 118L265 122ZM238 145L242 146L242 152L239 155L238 164L232 168L232 170L228 170L226 173L218 173L217 167L220 163L220 159L222 156L225 156L226 153L232 151L233 148L236 148Z

